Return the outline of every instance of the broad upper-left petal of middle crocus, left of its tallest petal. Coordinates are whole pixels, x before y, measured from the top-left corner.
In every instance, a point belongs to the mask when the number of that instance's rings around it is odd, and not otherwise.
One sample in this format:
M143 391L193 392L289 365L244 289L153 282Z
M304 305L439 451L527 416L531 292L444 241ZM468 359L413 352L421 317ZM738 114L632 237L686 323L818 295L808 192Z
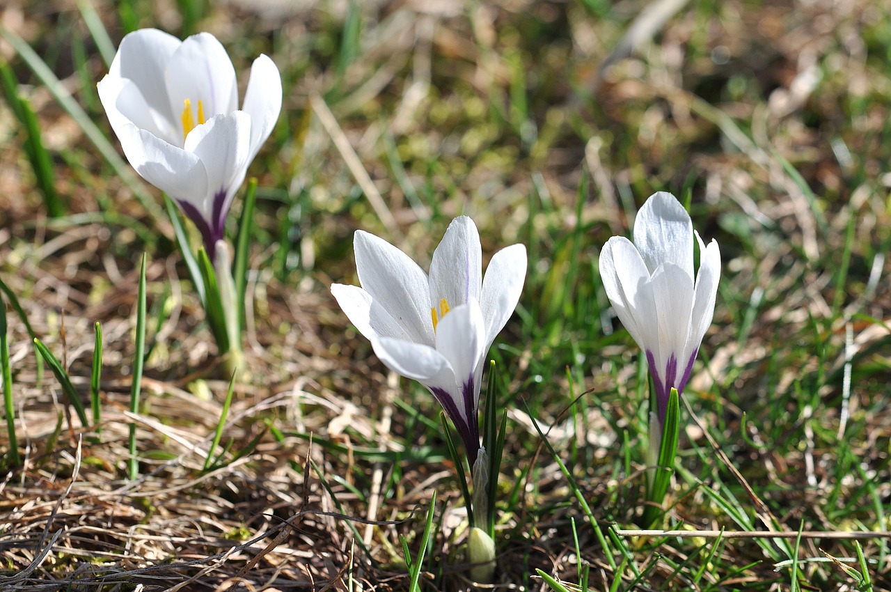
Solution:
M427 275L392 244L361 230L353 240L359 283L411 341L433 346Z

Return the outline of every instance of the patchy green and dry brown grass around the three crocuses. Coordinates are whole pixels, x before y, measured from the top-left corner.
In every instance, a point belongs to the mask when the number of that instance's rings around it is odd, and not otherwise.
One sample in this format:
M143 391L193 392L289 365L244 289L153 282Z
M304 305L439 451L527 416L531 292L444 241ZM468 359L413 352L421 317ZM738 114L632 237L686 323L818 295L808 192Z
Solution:
M0 437L0 588L215 589L251 557L255 587L466 587L440 410L329 286L357 283L356 229L426 268L467 214L484 259L529 254L490 351L502 408L486 416L507 417L499 584L891 589L887 538L813 538L891 530L885 12L696 0L597 79L637 4L25 4L26 26L0 29L0 361L18 440ZM133 174L96 95L140 27L214 32L242 91L257 53L282 70L256 191L228 220L249 369L231 387L209 276L184 254L194 229ZM689 199L723 266L674 480L648 515L707 536L623 534L645 522L649 379L597 259L658 190ZM785 534L731 536L768 530ZM223 557L236 531L271 534Z

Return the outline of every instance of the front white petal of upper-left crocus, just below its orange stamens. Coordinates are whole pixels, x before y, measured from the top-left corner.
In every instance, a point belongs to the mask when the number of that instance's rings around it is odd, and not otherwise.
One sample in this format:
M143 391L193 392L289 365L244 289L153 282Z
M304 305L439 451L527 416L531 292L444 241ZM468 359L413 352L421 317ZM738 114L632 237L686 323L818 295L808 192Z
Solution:
M244 180L250 155L250 118L244 111L217 115L196 126L185 138L185 150L193 152L207 170L208 193L193 196L192 203L220 225ZM222 197L221 197L222 196ZM200 203L196 200L203 199ZM223 203L218 201L222 199Z

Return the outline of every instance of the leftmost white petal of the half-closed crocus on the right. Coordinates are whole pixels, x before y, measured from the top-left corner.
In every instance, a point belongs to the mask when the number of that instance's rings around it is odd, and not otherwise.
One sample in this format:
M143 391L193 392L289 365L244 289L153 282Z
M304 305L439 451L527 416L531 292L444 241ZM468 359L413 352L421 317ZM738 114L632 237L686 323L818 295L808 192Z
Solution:
M616 316L643 350L658 349L658 320L650 272L641 254L624 236L603 245L601 281Z

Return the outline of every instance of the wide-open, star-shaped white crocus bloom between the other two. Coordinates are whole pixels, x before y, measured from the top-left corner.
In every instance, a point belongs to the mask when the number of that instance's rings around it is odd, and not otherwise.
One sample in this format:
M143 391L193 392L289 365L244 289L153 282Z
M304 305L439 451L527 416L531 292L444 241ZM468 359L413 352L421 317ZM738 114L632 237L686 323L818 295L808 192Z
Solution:
M380 361L421 382L446 409L470 466L479 448L480 379L492 341L517 307L526 247L495 253L482 277L477 226L455 218L433 253L430 273L373 234L356 231L359 283L333 284L340 308Z

